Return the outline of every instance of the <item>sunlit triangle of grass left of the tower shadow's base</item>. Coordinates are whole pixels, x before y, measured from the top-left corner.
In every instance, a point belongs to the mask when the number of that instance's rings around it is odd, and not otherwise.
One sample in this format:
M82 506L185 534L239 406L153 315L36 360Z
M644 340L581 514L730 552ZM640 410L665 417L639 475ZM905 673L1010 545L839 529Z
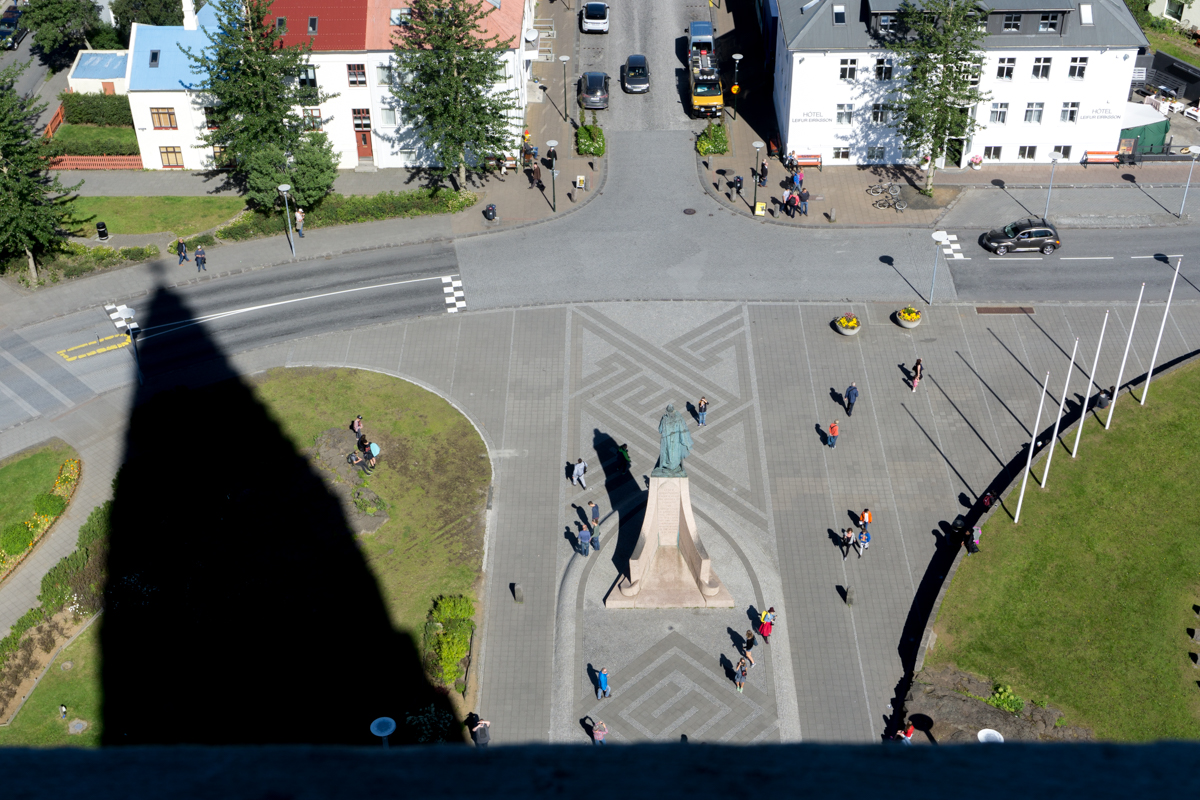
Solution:
M59 654L17 718L0 728L0 747L100 746L100 625L97 620ZM65 661L74 666L64 670ZM66 721L59 705L67 706ZM68 734L72 720L84 720L88 728Z

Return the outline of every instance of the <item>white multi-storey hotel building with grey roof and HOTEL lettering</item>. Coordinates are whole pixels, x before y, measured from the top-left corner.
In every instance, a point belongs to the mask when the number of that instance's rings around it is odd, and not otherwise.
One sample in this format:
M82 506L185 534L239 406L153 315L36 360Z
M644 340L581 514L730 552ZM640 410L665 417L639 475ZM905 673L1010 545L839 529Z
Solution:
M808 4L805 6L805 4ZM946 167L1080 161L1116 150L1133 67L1148 47L1122 0L1001 0L988 17L979 86L968 113L983 128L952 140ZM784 151L826 164L911 161L888 125L900 67L880 42L900 0L780 0L775 112Z

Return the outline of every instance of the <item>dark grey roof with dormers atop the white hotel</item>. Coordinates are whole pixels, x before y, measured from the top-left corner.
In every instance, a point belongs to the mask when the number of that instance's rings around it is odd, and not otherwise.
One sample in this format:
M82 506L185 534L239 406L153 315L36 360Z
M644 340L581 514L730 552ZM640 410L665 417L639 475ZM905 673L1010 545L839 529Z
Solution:
M895 11L902 0L779 0L779 24L790 50L882 49L869 29L871 13ZM808 8L804 6L811 4ZM833 7L846 6L846 24L833 24ZM919 1L917 5L920 5ZM1079 5L1063 0L997 0L994 11L1069 11L1066 30L1052 34L992 34L984 49L1048 47L1150 47L1123 0L1091 0L1091 25L1080 24Z

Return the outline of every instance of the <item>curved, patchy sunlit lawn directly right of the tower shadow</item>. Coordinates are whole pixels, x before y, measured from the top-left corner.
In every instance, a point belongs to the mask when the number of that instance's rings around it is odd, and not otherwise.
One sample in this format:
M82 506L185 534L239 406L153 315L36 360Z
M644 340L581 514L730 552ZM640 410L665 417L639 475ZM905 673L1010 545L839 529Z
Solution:
M362 536L362 553L392 624L420 642L433 599L474 596L482 569L491 465L479 433L437 395L373 372L280 368L253 384L300 450L362 415L364 431L383 451L370 486L391 505L390 521Z

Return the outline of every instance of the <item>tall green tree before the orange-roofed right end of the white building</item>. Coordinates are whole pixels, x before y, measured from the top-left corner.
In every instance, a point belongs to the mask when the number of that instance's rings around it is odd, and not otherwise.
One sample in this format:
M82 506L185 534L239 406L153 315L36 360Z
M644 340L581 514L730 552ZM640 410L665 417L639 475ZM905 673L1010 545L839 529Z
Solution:
M467 180L468 158L512 149L512 90L504 79L504 52L512 40L485 36L482 20L496 7L479 0L412 0L412 24L395 35L400 79L391 92L416 134L442 162L440 174Z

